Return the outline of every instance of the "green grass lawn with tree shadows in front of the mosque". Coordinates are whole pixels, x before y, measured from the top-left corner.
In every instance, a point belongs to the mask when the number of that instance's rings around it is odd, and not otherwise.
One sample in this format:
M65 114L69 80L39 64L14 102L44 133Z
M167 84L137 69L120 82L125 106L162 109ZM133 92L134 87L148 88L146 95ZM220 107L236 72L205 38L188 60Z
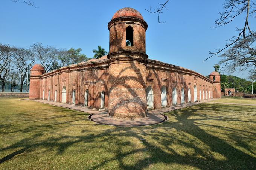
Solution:
M166 115L163 124L114 127L0 99L0 169L256 169L255 106L202 103Z

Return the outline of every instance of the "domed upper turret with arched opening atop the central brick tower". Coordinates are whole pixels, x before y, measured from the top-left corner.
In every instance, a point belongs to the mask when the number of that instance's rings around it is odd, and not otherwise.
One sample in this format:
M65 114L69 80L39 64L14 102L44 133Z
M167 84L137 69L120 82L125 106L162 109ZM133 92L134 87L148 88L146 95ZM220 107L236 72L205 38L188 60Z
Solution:
M119 55L120 51L137 52L140 57L148 58L148 55L145 54L145 32L147 28L148 25L143 20L142 15L133 8L122 8L114 13L108 23L108 58Z

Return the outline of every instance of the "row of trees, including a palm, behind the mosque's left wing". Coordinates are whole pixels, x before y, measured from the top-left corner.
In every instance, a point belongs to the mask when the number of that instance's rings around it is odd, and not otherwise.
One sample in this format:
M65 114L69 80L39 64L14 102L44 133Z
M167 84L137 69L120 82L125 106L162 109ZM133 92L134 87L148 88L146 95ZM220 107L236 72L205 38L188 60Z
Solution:
M29 48L18 48L0 43L1 91L11 89L11 92L14 92L14 89L19 89L22 92L29 81L29 70L35 63L40 63L46 72L50 72L60 67L91 59L85 54L81 54L81 51L81 48L58 49L53 46L44 46L42 43L35 43ZM98 46L98 50L94 49L93 53L95 53L93 58L107 55L101 46Z

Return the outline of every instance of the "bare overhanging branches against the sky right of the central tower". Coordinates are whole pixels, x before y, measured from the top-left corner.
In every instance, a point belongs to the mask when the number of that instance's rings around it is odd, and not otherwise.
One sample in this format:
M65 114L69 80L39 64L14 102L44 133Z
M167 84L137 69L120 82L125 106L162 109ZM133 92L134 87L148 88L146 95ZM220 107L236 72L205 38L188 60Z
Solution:
M169 2L169 0L165 0L164 3L159 3L159 6L156 7L154 9L154 11L152 11L151 7L149 10L147 10L150 13L157 13L158 14L158 22L159 23L163 23L160 22L160 14L163 13L163 10L166 9L166 4ZM223 48L218 48L216 49L215 52L210 52L210 56L207 59L209 59L210 57L213 57L215 55L221 55L222 52L224 52L225 50L229 49L232 47L232 51L235 53L239 53L236 52L236 50L239 50L239 46L241 46L241 48L243 48L242 46L244 45L244 43L247 42L248 39L250 39L251 36L255 36L255 32L253 33L253 30L250 28L250 24L249 21L252 17L255 17L256 14L256 1L255 0L224 0L223 2L223 8L224 11L223 12L219 12L219 18L216 19L215 21L215 27L221 27L223 25L229 24L230 22L232 22L235 18L237 18L237 16L244 16L245 20L244 20L244 26L242 28L236 28L238 31L238 34L235 36L232 36L229 40L228 43L226 44L226 46L224 46ZM251 21L252 22L252 21ZM234 51L235 50L235 51ZM232 60L233 58L230 57L229 60ZM206 61L204 60L204 61ZM235 62L236 61L231 61L230 63ZM241 63L240 66L242 66L243 63Z

